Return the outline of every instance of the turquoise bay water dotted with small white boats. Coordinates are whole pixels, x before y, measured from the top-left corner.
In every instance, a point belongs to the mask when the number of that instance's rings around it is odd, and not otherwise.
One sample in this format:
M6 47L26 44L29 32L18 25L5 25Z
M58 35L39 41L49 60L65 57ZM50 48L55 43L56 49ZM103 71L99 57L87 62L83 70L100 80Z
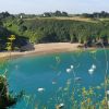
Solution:
M101 86L105 73L109 74L108 62L109 50L13 59L9 65L9 88L13 94L24 90L25 95L12 109L55 109L60 104L65 109L72 109L74 101L80 107L81 88ZM105 94L104 88L95 92L95 100L100 100Z

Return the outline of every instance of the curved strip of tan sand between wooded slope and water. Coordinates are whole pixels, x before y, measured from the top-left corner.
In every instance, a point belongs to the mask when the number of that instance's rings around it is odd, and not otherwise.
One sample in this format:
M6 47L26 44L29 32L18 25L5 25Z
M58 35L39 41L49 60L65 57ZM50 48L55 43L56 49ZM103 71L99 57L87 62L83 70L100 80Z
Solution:
M53 52L63 51L75 51L80 50L78 46L81 44L70 44L70 43L51 43L51 44L37 44L35 45L35 50L33 51L12 51L11 57L28 56L28 55L46 55ZM0 52L0 58L10 57L10 52Z

